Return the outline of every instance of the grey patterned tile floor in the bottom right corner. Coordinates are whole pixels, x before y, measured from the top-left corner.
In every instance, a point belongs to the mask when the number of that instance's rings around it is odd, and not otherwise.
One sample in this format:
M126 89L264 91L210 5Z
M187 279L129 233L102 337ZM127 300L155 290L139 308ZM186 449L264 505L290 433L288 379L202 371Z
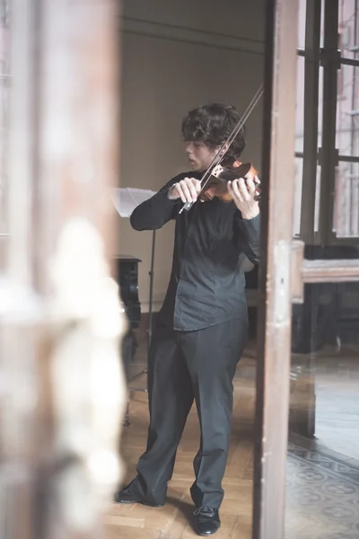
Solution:
M359 468L289 444L285 539L358 539Z

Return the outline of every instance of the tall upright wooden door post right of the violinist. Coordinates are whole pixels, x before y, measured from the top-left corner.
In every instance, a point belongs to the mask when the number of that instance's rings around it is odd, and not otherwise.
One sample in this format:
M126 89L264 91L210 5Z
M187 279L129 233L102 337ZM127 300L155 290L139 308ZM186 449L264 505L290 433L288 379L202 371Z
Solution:
M253 539L283 539L298 2L268 0L266 20Z

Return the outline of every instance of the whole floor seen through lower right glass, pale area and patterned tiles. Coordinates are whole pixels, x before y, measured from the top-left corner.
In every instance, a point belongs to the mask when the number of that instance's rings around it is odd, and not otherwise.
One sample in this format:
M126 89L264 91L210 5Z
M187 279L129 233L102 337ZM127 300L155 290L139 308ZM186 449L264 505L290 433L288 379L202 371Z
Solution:
M298 379L314 393L315 437L288 444L285 539L358 539L359 349L321 349L310 364Z

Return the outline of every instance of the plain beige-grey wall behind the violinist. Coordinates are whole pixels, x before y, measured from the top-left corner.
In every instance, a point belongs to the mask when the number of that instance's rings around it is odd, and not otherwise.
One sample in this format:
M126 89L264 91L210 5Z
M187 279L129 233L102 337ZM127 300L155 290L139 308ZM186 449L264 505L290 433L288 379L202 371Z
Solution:
M180 123L204 102L243 110L263 80L264 0L127 0L122 19L122 187L158 190L188 170ZM260 167L261 104L247 122L243 160ZM139 295L148 307L151 232L118 217L118 253L140 258ZM157 233L153 299L162 304L173 225Z

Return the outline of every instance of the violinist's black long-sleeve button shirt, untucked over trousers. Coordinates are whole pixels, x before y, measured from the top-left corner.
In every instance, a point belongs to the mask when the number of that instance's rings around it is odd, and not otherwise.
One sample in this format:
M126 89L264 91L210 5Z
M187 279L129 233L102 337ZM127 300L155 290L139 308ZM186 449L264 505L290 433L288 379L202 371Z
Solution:
M242 219L234 202L219 199L196 202L180 215L183 202L170 200L168 190L186 177L169 181L132 213L136 230L156 230L176 219L169 287L160 316L163 323L180 331L192 331L233 318L247 320L245 278L241 260L246 255L258 263L260 217Z

